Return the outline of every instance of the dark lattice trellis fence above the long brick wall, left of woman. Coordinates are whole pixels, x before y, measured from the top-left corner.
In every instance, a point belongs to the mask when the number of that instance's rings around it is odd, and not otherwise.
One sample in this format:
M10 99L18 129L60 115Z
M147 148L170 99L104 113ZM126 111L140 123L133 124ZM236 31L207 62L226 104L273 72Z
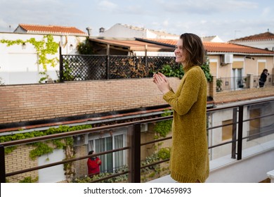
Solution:
M60 81L152 77L164 65L178 66L167 56L61 55Z

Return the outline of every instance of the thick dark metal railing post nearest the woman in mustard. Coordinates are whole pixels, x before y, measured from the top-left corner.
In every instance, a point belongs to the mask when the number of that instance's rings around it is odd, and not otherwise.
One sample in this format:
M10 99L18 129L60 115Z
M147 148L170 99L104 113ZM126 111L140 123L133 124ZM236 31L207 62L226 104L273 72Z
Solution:
M133 125L129 158L129 182L141 183L141 124Z

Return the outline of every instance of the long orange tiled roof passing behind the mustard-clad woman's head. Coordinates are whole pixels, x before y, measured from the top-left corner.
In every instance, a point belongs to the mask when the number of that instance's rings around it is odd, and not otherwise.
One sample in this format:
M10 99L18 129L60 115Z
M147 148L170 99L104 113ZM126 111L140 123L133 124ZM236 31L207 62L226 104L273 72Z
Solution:
M141 40L141 39L138 39ZM155 44L168 44L175 46L177 40L174 39L143 39L143 41L154 42ZM243 46L240 44L232 44L227 42L203 42L204 48L211 53L258 53L258 54L274 54L273 51L258 49L251 46Z

